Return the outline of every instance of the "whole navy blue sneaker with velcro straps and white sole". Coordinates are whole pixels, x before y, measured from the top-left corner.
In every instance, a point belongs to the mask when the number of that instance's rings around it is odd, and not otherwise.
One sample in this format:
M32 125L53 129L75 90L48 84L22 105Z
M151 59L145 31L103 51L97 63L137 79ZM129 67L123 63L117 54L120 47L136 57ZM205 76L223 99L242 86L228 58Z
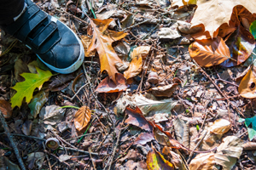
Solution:
M3 31L25 43L52 71L68 74L84 61L84 47L79 37L55 17L25 0L24 12Z

